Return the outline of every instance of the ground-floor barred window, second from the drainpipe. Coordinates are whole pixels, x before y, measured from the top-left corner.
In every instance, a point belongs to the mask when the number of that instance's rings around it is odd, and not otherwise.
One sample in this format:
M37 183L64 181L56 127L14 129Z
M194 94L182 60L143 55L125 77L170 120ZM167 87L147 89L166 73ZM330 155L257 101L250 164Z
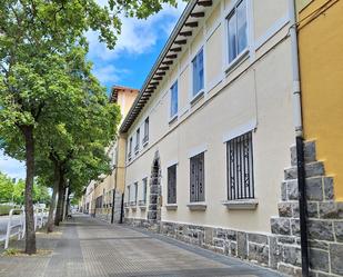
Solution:
M191 158L191 202L204 201L204 154Z

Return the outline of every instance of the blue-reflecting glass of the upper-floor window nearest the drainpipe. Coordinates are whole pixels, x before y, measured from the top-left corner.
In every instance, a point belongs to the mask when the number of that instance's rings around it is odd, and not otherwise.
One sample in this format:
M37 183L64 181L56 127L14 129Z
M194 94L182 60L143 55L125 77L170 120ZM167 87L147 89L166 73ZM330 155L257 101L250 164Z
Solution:
M228 17L229 63L248 47L248 21L245 0L238 2Z

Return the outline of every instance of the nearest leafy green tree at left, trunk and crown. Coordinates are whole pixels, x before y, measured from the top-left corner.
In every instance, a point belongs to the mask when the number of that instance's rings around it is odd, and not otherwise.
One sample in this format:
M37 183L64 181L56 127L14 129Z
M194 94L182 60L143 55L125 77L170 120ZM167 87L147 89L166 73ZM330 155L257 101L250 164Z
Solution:
M158 12L163 2L175 4L175 0L109 0L109 6L101 8L95 0L0 0L0 144L8 155L27 165L27 254L36 253L36 133L49 129L57 108L68 106L67 91L72 91L64 55L73 46L85 44L83 33L89 29L98 30L99 39L113 48L120 14L145 18Z

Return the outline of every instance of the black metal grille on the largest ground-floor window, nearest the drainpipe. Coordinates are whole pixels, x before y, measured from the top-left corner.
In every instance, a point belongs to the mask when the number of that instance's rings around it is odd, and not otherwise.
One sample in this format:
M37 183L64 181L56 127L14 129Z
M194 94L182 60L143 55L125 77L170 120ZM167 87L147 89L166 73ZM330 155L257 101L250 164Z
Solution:
M226 142L228 199L254 198L252 132Z

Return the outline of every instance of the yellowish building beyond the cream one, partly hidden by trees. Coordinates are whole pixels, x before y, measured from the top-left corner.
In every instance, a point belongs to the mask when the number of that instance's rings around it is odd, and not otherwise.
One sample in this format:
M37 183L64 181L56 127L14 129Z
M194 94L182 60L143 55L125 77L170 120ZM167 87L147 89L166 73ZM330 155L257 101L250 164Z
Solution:
M137 96L137 89L119 86L112 88L110 101L119 105L122 117L121 122ZM100 176L98 180L93 180L88 185L83 197L83 210L94 217L113 222L120 221L122 214L125 159L125 139L123 136L115 138L108 148L108 156L111 159L111 174Z

